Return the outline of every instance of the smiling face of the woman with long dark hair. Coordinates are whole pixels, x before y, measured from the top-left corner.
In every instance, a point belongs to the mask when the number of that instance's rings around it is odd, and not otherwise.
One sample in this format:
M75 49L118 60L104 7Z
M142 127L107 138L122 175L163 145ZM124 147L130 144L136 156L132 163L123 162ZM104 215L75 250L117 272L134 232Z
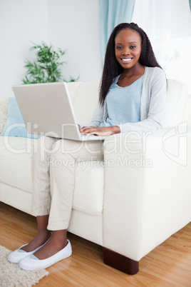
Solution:
M115 37L115 58L123 69L138 64L141 53L140 35L131 29L123 29Z

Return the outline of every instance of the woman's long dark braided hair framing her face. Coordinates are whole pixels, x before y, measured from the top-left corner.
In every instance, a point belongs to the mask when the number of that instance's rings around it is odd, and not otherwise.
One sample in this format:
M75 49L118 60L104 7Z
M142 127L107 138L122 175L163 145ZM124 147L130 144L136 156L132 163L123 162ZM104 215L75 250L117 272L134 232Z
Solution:
M105 97L107 96L110 86L111 84L113 84L113 81L115 80L115 78L118 75L123 74L122 66L120 66L118 61L115 59L115 37L123 29L134 30L138 32L138 34L140 35L142 49L140 53L139 63L143 66L161 68L161 66L158 64L158 61L155 58L153 48L150 44L150 40L148 39L148 36L145 33L145 31L143 31L143 29L141 29L135 23L119 24L113 29L113 32L110 35L110 39L108 40L108 45L107 45L107 49L105 52L103 75L102 75L102 80L100 83L99 101L101 105L104 104Z

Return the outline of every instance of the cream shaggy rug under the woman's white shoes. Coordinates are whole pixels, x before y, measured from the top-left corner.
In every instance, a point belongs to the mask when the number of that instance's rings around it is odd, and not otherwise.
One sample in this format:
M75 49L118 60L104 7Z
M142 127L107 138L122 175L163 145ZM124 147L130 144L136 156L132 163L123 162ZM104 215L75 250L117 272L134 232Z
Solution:
M0 246L0 286L1 287L21 287L33 286L41 278L48 275L45 269L37 271L25 271L19 264L11 263L7 256L11 251L4 246Z

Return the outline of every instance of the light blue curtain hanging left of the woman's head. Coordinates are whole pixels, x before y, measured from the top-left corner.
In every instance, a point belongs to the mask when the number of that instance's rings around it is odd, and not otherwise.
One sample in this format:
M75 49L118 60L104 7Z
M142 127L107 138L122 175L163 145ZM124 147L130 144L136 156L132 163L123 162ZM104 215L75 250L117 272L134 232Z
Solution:
M102 63L109 36L115 26L130 22L135 0L99 0L100 54Z

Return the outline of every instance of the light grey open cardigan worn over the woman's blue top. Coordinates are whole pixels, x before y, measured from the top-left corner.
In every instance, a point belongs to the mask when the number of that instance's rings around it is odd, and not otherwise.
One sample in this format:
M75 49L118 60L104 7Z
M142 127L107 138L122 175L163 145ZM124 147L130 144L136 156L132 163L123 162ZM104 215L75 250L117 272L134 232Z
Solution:
M165 111L165 99L165 72L158 67L145 67L143 90L140 98L140 121L137 123L119 124L120 131L161 129ZM97 106L91 124L88 126L100 126L107 117L108 109L105 101L103 106Z

